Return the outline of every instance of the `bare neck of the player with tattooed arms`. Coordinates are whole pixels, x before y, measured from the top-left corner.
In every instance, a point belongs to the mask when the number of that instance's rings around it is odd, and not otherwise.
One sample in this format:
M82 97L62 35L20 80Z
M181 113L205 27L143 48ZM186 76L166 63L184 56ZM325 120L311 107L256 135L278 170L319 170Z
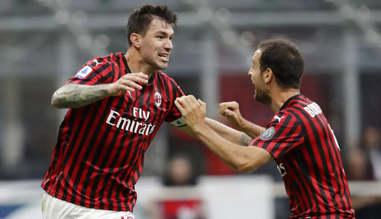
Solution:
M129 49L124 56L131 73L143 72L143 74L151 77L152 73L156 70L148 65L136 50Z

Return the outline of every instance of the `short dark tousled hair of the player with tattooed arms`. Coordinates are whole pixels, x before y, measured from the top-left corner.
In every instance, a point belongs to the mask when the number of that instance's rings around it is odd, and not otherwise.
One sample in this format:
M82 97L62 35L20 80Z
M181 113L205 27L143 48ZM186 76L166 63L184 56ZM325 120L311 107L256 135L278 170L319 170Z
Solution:
M136 8L128 18L126 27L128 46L132 45L131 35L137 33L144 36L155 17L175 26L178 20L177 14L165 5L143 5Z

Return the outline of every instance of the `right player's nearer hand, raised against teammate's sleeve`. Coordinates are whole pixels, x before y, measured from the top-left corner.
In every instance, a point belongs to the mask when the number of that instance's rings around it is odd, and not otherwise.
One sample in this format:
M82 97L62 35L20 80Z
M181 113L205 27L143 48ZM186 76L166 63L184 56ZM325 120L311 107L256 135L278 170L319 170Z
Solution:
M200 99L196 99L193 95L182 96L174 101L177 108L180 110L185 122L192 129L197 125L202 125L205 122L207 113L207 104Z

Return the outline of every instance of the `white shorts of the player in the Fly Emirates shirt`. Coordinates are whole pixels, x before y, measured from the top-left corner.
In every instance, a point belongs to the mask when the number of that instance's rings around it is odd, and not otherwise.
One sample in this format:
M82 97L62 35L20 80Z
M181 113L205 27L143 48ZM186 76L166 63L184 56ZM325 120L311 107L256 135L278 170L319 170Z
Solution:
M47 192L42 197L42 219L134 219L130 211L108 211L86 208L61 199Z

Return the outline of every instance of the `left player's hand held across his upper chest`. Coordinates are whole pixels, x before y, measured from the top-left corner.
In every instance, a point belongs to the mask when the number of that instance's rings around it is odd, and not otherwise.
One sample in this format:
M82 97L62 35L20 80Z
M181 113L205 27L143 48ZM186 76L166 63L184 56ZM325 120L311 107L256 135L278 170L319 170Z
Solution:
M141 90L142 86L138 83L147 84L147 79L148 76L142 72L126 74L117 80L117 82L110 84L107 87L107 92L110 96L117 96L126 91L135 91L135 88Z

